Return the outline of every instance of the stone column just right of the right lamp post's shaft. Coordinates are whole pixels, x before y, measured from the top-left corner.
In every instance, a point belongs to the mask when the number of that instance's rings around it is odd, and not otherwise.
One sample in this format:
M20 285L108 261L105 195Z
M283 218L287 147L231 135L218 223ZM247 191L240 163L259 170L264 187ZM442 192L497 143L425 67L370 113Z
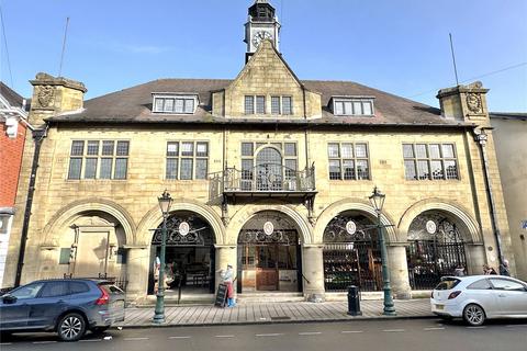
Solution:
M406 262L406 247L404 245L388 246L388 263L392 293L396 298L411 298L408 264Z

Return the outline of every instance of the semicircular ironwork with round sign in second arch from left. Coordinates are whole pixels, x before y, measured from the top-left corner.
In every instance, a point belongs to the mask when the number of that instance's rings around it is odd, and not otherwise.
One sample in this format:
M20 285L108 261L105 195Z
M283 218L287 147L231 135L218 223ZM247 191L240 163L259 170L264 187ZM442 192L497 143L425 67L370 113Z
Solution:
M153 245L161 245L161 226L154 229ZM211 226L195 215L171 215L167 218L167 246L213 245L211 230Z

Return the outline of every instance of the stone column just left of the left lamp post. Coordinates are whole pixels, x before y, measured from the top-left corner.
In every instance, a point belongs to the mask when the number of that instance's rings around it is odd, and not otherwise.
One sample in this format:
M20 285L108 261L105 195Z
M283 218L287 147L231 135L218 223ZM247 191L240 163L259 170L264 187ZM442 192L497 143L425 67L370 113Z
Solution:
M149 252L146 246L126 246L126 299L137 302L146 298L148 290Z

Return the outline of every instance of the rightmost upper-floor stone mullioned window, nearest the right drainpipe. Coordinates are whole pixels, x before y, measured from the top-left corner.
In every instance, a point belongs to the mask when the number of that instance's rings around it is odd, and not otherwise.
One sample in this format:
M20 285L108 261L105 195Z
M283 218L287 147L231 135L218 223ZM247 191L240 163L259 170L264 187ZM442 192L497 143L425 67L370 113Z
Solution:
M459 179L453 144L403 144L406 180Z

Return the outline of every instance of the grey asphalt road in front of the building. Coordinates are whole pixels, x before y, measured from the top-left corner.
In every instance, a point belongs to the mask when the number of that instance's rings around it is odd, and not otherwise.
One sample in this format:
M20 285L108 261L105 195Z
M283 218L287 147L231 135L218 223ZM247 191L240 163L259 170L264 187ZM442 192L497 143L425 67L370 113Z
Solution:
M354 320L346 322L170 327L110 330L76 343L54 335L14 335L2 340L10 350L525 350L527 320L492 321L467 327L439 319Z

